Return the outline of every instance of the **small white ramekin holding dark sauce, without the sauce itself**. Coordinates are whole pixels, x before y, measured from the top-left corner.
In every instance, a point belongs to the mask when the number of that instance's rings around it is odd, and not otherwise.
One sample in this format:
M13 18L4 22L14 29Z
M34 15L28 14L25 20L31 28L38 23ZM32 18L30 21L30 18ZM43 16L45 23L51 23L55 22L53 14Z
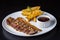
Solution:
M46 21L46 22L42 22L42 21L39 21L39 20L38 20L38 18L40 18L40 17L47 17L47 18L49 18L49 20ZM49 27L50 24L51 24L51 18L50 18L48 15L38 16L38 17L37 17L37 23L38 23L38 25L39 25L40 27Z

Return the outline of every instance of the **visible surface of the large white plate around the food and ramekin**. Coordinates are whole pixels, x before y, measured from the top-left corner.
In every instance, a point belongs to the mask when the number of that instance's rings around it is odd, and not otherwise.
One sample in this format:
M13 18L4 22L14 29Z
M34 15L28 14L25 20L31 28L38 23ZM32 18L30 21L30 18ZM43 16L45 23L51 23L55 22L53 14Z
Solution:
M51 25L50 25L48 28L42 28L42 27L40 27L40 26L37 25L38 23L31 21L30 23L31 23L32 25L34 25L34 26L36 26L37 28L40 28L40 29L42 30L41 32L38 32L38 33L36 33L36 34L34 34L34 35L27 35L27 34L25 34L25 33L23 33L23 32L16 31L14 28L12 28L11 26L8 26L8 25L7 25L6 19L9 18L9 17L13 17L13 18L23 17L24 19L26 19L26 18L22 15L22 11L14 12L14 13L11 13L11 14L9 14L8 16L6 16L6 17L4 18L4 20L2 21L2 26L3 26L3 28L4 28L6 31L8 31L9 33L14 34L14 35L18 35L18 36L37 36L37 35L42 35L42 34L44 34L44 33L47 33L47 32L49 32L49 31L51 31L51 30L56 26L56 24L57 24L56 18L55 18L53 15L51 15L50 13L44 12L43 15L48 15L48 16L50 16L51 19L53 19L53 21L52 21Z

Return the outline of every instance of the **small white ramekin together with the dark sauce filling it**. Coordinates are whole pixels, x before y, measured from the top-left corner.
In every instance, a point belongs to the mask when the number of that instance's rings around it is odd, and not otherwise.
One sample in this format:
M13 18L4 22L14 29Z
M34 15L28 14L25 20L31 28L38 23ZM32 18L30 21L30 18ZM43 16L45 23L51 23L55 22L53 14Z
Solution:
M42 15L37 17L37 23L40 27L49 27L51 24L50 17L47 15Z

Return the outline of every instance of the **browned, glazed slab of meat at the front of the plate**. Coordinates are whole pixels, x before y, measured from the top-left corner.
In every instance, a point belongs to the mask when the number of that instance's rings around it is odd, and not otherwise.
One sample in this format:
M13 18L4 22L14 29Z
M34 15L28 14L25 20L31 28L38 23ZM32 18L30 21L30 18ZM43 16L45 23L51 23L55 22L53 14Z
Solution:
M17 31L24 32L29 35L33 35L42 31L41 29L33 26L32 24L30 24L29 22L27 22L25 19L21 17L18 17L16 19L9 17L6 20L6 22L8 25L12 26Z

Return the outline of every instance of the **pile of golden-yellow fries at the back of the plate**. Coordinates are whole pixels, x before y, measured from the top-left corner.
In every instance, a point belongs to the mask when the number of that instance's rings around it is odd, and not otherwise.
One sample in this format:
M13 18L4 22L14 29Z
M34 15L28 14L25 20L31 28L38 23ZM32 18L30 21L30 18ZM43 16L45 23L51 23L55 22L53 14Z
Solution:
M36 17L42 14L43 12L41 11L40 6L27 7L22 10L22 15L26 16L28 21L33 20L36 22Z

